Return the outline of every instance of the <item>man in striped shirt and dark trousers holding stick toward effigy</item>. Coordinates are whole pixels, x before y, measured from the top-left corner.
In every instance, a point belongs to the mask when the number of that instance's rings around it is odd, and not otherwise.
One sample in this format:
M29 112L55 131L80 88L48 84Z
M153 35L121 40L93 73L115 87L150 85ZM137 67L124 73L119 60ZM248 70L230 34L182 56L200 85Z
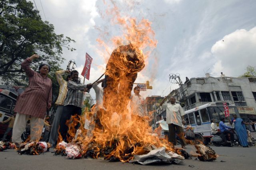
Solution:
M76 115L77 120L79 121L79 116L82 114L82 107L84 103L84 91L89 92L92 88L92 84L89 83L84 85L78 79L78 71L73 70L70 72L71 80L67 82L68 92L64 100L63 112L60 118L60 134L62 140L69 141L71 138L68 133L68 126L66 122L70 119L71 116ZM79 125L75 126L74 134Z

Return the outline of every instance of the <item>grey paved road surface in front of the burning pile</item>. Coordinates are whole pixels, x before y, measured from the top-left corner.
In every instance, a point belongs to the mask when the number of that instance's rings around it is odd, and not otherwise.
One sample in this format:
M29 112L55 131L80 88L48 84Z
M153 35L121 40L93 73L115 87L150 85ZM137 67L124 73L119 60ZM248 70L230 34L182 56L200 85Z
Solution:
M140 164L130 164L123 162L108 162L101 159L77 159L69 160L63 156L54 156L53 149L40 155L18 155L16 150L5 150L0 152L1 170L183 170L183 169L214 169L214 170L245 170L256 169L256 147L216 147L212 149L219 155L214 162L201 162L199 160L184 160L183 164L154 164L143 166ZM190 145L186 149L188 152L195 151L194 146ZM225 162L221 162L225 161ZM193 165L194 167L189 167Z

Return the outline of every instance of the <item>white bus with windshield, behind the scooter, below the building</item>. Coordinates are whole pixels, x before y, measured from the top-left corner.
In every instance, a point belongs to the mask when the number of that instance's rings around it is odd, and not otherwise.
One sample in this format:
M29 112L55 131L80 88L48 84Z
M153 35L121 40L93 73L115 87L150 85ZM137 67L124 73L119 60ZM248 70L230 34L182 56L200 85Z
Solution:
M236 114L237 117L240 117L234 103L232 102L226 102L226 103L228 105L230 118L234 114ZM210 120L215 119L216 124L218 125L222 117L225 117L223 103L211 102L211 103L207 103L205 105L196 107L194 109L185 111L185 115L182 116L182 119L186 121L187 125L192 126L192 128L194 129L195 138L203 141L205 138L211 138L213 136L211 134ZM226 119L225 124L227 126L230 126L228 119Z

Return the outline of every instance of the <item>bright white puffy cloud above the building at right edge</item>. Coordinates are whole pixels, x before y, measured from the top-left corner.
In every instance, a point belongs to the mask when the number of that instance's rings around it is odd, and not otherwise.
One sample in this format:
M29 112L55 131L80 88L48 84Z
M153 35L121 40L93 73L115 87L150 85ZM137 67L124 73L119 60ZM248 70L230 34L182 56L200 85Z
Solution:
M212 74L239 76L245 72L247 65L256 63L256 27L247 31L236 30L216 42L211 49L216 59Z

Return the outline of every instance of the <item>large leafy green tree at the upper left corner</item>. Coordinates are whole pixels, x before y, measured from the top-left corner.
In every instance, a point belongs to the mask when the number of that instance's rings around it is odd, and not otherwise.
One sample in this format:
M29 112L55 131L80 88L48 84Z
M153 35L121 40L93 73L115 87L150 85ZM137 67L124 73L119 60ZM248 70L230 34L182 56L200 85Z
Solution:
M61 57L62 47L75 50L69 45L75 41L63 34L55 34L54 26L42 21L32 2L2 0L0 9L0 76L14 84L23 85L20 76L24 74L20 64L32 54L41 56L32 63L34 70L40 62L50 63L52 68L59 69L64 60Z

